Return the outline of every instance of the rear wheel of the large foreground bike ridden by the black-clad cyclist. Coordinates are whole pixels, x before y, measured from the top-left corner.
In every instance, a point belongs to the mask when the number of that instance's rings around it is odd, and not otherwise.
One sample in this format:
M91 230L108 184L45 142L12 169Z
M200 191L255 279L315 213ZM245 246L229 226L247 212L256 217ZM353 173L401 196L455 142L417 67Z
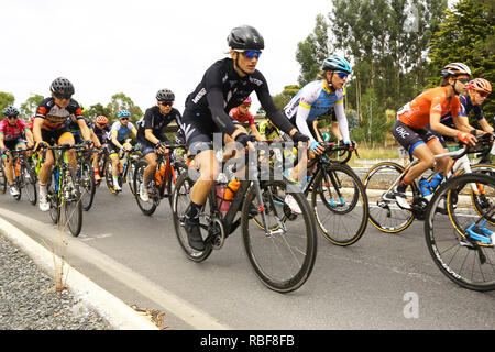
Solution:
M191 249L187 240L186 229L184 228L186 221L186 210L190 204L190 190L193 189L193 186L194 180L189 177L188 173L180 175L177 179L174 195L172 197L172 213L174 218L175 234L177 235L177 240L186 256L194 262L202 262L211 254L213 250L211 243L205 242L206 248L201 252ZM207 200L204 209L209 209L209 200ZM199 222L202 239L206 240L208 237L209 223L202 211L199 215Z

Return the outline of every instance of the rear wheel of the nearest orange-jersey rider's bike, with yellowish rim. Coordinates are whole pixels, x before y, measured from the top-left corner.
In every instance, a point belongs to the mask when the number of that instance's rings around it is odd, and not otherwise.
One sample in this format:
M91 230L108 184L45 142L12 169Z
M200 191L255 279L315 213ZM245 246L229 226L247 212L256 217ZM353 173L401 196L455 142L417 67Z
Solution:
M370 222L380 231L398 233L415 219L411 211L397 206L394 196L387 194L404 173L404 167L391 162L378 163L364 176L363 185L370 202Z

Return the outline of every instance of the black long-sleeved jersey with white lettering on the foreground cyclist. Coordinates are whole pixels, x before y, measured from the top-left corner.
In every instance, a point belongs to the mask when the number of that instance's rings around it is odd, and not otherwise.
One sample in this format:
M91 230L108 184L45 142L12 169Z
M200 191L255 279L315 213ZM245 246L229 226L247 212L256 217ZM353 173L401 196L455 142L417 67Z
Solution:
M211 142L217 131L231 135L235 125L228 112L239 107L253 90L275 125L289 133L294 127L275 107L265 77L258 70L241 77L233 68L232 58L224 58L207 69L186 99L180 128L187 143Z

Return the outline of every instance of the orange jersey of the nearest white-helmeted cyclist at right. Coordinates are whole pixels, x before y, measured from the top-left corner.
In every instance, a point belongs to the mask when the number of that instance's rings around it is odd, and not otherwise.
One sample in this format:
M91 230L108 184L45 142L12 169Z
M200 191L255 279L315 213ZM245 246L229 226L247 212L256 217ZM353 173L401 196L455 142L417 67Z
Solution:
M425 129L430 122L431 113L443 116L450 112L453 117L460 116L459 97L453 96L449 100L447 94L448 87L437 87L420 94L397 111L397 119L411 128Z

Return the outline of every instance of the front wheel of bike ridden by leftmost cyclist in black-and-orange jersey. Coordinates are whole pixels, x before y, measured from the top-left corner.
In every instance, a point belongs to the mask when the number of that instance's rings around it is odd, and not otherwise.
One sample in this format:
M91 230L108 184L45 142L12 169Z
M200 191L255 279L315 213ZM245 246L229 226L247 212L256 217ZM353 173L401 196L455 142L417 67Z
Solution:
M74 237L78 237L82 228L82 202L78 177L70 165L67 165L61 177L61 222Z

